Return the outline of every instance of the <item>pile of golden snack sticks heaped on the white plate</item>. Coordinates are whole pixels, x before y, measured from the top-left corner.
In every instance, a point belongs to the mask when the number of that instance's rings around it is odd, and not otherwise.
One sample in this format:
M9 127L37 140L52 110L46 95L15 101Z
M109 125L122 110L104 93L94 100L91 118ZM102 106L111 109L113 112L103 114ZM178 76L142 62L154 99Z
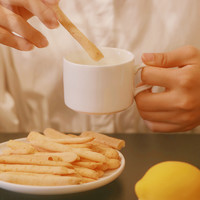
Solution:
M35 186L96 181L121 165L123 140L92 131L64 134L47 128L24 140L9 140L0 155L0 180Z

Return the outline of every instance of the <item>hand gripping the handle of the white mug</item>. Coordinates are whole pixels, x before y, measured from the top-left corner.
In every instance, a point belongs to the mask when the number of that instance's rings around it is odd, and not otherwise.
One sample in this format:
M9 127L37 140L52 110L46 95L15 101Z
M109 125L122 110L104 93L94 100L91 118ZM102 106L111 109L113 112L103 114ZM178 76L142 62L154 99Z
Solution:
M167 53L143 54L142 60L148 65L142 70L142 83L165 88L164 92L146 90L136 96L147 126L155 132L187 131L198 126L200 51L185 46Z

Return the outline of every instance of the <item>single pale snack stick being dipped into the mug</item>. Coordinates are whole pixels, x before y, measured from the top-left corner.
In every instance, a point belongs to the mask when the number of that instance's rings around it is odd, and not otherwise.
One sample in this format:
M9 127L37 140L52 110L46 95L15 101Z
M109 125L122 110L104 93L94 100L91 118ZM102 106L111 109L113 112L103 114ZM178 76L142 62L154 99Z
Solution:
M104 56L101 51L69 20L58 6L53 7L57 14L58 21L65 29L79 42L88 55L95 61L101 60Z

